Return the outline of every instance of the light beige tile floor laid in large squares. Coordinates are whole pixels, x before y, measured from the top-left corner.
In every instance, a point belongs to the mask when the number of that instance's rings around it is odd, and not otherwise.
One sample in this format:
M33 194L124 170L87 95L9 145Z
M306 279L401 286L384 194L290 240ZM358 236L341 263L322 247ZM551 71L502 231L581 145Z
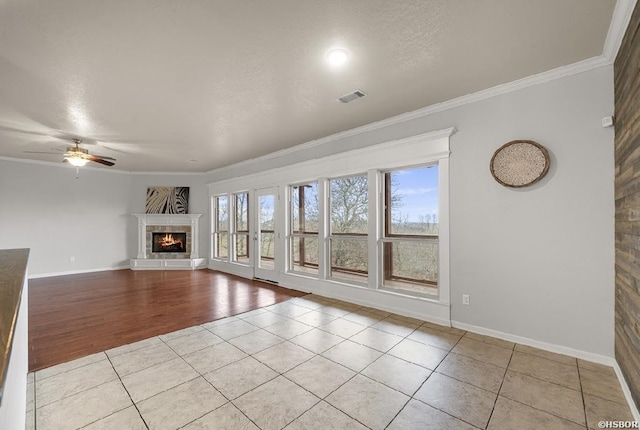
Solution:
M27 429L597 429L612 368L306 296L29 375Z

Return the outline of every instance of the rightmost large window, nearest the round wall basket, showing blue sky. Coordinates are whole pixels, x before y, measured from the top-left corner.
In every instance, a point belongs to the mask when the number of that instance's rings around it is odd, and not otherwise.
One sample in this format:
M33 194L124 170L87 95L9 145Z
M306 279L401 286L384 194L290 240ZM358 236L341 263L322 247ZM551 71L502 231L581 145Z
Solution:
M384 173L383 286L438 294L438 167Z

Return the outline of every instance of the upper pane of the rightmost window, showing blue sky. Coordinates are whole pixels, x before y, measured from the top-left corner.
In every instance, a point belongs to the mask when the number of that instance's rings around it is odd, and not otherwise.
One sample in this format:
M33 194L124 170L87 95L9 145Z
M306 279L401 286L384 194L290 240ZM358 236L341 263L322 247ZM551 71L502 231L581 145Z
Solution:
M438 166L389 172L385 180L387 234L437 235Z

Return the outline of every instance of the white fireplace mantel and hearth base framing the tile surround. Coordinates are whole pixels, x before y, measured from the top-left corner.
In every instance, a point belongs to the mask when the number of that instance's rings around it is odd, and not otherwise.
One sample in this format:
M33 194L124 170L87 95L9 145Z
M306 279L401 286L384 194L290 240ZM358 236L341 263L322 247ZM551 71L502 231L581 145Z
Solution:
M131 260L133 270L198 269L206 259L198 256L198 219L202 214L132 214L138 219L138 256ZM147 226L188 226L190 231L189 258L152 258L148 254Z

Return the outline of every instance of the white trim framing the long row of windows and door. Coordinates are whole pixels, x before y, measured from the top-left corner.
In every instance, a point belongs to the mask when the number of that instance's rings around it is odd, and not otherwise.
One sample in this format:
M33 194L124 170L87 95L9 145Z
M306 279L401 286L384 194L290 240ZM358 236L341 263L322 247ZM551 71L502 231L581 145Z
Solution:
M287 232L287 213L289 198L285 196L285 193L292 184L301 184L318 181L318 197L319 197L319 210L325 214L328 208L325 207L327 201L327 174L331 173L331 177L343 177L349 175L363 174L368 172L368 178L370 180L378 177L378 171L380 170L393 170L400 167L420 166L425 164L438 164L441 166L440 172L440 187L448 181L448 169L447 160L449 157L450 136L455 133L455 128L447 128L444 130L437 130L429 133L424 133L416 136L411 136L403 139L397 139L388 141L376 145L371 145L364 149L356 149L351 151L345 151L343 153L330 155L327 157L318 158L315 160L307 160L300 163L294 163L286 168L266 169L259 173L254 173L246 176L235 177L232 179L225 179L219 182L213 182L207 184L209 188L209 195L214 198L219 194L234 193L236 190L252 189L252 195L255 197L257 194L256 188L271 188L276 187L279 189L278 195L282 196L277 205L278 209L284 215L282 217L276 217L280 219L278 226L280 232ZM446 187L446 184L445 184ZM446 191L446 188L443 188ZM323 191L324 190L324 191ZM379 184L378 181L369 181L369 193L373 194L369 200L369 229L370 235L367 237L368 249L369 249L369 266L370 269L372 263L378 268L380 262L376 263L377 250L378 250L378 232L380 229L380 213L379 213ZM442 223L443 217L448 216L448 199L442 198L440 202L440 222ZM373 204L372 204L373 202ZM254 207L257 205L254 204ZM284 212L282 212L284 211ZM373 216L373 213L377 213L377 216ZM215 213L212 213L212 217ZM375 218L377 225L371 224L372 218ZM326 216L323 218L326 222ZM212 218L213 220L213 218ZM276 258L276 269L278 272L278 280L287 287L291 287L300 291L314 292L317 294L325 295L328 297L335 297L341 300L351 301L354 303L364 304L367 306L377 307L385 309L390 312L395 312L401 315L407 315L422 320L435 322L438 324L449 325L450 318L450 290L448 279L448 266L447 259L448 247L443 246L443 242L448 240L446 232L440 235L439 243L442 246L443 252L440 254L441 264L444 262L443 276L439 282L439 298L426 298L411 295L401 291L389 291L387 289L378 288L377 283L371 282L371 278L377 278L370 270L369 284L367 285L355 285L346 282L340 282L337 280L326 279L326 274L322 273L322 270L326 270L326 262L328 257L323 253L327 252L326 241L328 237L327 226L321 223L319 226L319 240L321 241L320 247L320 275L318 279L313 279L307 276L297 276L293 273L286 272L286 265L282 264L284 261L283 252L286 248L286 241L288 235L280 235L277 239L279 243L278 255L281 257L279 260ZM277 226L277 228L278 228ZM278 245L277 245L278 246ZM282 254L282 255L281 255ZM256 253L254 252L254 255ZM323 256L324 255L324 256ZM280 261L280 263L279 263ZM227 261L211 260L209 267L223 272L233 273L239 276L250 277L251 274L248 270L239 269ZM377 269L379 270L379 269Z

